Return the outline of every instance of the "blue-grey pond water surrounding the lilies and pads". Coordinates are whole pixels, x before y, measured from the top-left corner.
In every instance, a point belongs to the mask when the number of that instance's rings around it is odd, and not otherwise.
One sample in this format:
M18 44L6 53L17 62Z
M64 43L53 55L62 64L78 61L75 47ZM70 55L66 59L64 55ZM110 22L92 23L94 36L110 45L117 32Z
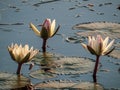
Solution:
M78 43L71 43L66 38L76 36L80 30L73 30L72 27L79 23L107 21L119 24L119 5L119 0L0 0L0 72L16 72L17 64L7 50L11 43L29 44L41 50L42 39L34 34L29 23L32 22L41 29L38 25L46 18L56 19L56 24L61 25L57 35L48 40L47 52L95 60L95 56L86 52L79 40ZM120 43L120 39L116 41ZM97 74L97 83L108 90L120 90L120 58L102 56L100 63L102 67ZM33 69L38 67L35 65ZM49 80L30 77L28 68L24 64L21 72L33 84ZM50 80L56 79L93 82L92 73L59 75Z

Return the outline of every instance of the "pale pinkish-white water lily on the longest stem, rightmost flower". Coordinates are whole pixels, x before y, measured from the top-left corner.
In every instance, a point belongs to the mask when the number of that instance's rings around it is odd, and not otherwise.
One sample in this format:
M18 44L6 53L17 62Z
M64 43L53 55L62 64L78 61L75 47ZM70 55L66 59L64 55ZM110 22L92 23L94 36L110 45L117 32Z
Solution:
M114 40L109 43L109 37L103 39L101 35L97 35L95 38L94 36L88 36L88 44L81 43L81 45L88 50L91 54L96 55L96 63L93 72L93 78L96 77L99 57L101 55L108 55L114 50L114 47L111 49ZM95 80L96 81L96 80Z

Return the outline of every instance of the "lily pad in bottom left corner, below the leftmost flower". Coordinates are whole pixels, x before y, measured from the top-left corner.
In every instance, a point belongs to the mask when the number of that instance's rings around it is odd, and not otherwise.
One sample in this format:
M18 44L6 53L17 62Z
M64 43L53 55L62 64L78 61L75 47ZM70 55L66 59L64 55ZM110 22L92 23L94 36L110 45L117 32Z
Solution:
M0 72L0 90L23 88L30 84L30 80L24 76Z

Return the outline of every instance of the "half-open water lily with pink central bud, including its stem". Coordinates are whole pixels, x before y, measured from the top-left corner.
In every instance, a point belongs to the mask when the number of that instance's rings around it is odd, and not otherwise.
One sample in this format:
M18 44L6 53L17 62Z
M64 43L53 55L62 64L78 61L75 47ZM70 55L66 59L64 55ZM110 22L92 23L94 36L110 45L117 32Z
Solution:
M56 22L55 19L51 22L50 19L45 19L41 31L39 31L34 24L30 23L30 27L35 32L35 34L43 39L42 49L43 52L46 52L46 40L48 38L53 37L57 31L59 30L60 26L57 27L55 30Z

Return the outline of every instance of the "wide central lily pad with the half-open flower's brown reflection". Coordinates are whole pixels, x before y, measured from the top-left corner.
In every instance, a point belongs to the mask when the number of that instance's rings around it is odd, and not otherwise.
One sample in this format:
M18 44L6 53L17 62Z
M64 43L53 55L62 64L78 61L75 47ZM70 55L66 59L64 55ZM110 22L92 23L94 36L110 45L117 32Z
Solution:
M83 57L66 57L66 56L44 56L39 55L34 60L40 65L40 70L35 71L41 73L47 71L53 74L81 74L93 71L95 62L89 58ZM35 74L37 74L35 73ZM44 74L44 73L43 73ZM42 74L41 74L42 75ZM43 75L44 76L44 75ZM41 77L41 76L37 76ZM46 77L46 76L45 76Z

